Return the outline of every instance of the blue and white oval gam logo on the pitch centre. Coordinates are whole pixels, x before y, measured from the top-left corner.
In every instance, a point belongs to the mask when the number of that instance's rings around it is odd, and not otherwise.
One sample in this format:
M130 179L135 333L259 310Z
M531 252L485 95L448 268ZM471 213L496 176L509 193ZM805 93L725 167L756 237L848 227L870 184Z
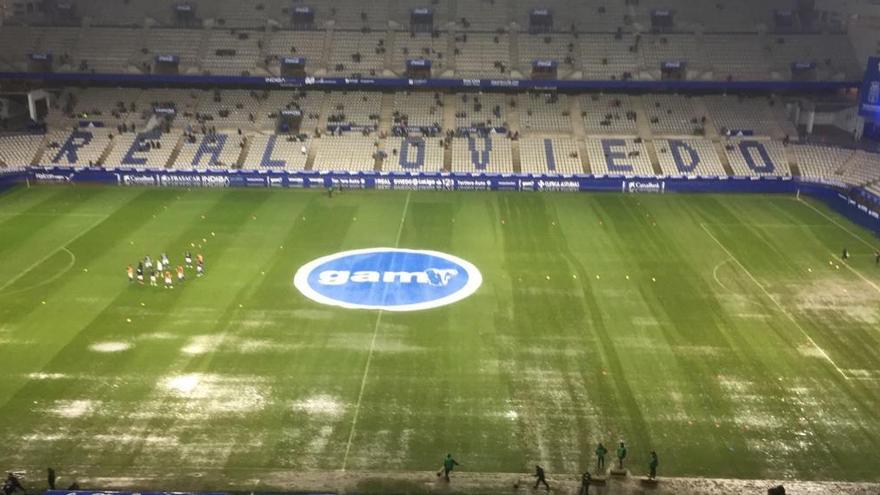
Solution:
M300 268L293 284L309 299L352 309L417 311L473 294L477 267L437 251L373 248L324 256Z

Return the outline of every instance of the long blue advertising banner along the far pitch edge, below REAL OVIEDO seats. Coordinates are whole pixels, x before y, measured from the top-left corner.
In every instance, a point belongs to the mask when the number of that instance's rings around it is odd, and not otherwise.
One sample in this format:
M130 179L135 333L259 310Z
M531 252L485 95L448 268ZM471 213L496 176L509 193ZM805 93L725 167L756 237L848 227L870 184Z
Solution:
M34 184L104 183L120 186L210 188L320 189L333 186L337 189L424 191L561 191L625 194L800 193L823 201L854 223L880 235L880 213L878 213L880 198L861 189L851 191L853 194L863 197L866 194L872 196L872 199L876 201L877 209L871 209L857 203L831 186L802 182L787 177L614 178L588 175L288 172L271 169L178 171L137 168L29 167L20 174L0 176L0 189L4 185L8 187L13 183L24 181ZM48 495L67 495L67 493L49 492Z

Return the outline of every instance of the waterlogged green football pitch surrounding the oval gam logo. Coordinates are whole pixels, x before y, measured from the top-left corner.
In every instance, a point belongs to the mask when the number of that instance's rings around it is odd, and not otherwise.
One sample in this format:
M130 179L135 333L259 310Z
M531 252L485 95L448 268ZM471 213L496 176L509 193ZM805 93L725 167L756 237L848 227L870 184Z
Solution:
M223 489L447 452L578 473L622 439L635 473L656 450L666 476L877 481L876 241L782 195L13 189L0 466ZM377 247L454 255L482 285L411 312L294 287ZM205 277L128 282L186 250Z

